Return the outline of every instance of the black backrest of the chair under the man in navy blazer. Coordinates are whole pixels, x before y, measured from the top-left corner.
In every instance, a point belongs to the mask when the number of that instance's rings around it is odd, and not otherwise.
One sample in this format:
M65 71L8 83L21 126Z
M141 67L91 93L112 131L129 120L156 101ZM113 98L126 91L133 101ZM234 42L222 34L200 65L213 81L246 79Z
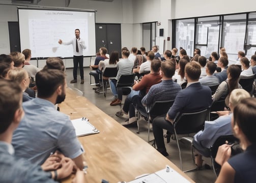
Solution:
M176 134L190 134L203 130L209 108L198 112L180 113L174 119Z

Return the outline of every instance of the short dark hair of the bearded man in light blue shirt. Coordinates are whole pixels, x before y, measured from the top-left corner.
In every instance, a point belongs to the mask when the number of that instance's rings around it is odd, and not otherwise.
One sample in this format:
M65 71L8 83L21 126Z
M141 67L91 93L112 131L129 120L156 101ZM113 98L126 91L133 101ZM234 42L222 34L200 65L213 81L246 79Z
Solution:
M65 85L65 73L56 69L43 69L36 74L37 96L49 98L55 90Z

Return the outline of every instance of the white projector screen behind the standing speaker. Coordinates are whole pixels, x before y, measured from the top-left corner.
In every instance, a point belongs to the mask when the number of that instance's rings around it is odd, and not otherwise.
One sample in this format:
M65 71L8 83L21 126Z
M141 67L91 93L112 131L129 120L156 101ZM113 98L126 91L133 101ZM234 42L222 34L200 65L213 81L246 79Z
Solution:
M73 57L73 46L60 45L75 38L75 29L80 29L80 38L85 41L83 56L94 56L95 12L18 9L20 47L31 49L32 57Z

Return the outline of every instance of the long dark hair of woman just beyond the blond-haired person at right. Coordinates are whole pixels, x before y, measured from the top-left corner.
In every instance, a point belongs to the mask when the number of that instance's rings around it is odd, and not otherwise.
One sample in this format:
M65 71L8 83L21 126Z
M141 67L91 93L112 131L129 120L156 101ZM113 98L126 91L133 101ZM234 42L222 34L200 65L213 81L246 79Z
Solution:
M234 89L238 88L238 80L241 74L241 69L237 65L231 65L229 68L227 68L227 73L231 76L228 81L230 95Z

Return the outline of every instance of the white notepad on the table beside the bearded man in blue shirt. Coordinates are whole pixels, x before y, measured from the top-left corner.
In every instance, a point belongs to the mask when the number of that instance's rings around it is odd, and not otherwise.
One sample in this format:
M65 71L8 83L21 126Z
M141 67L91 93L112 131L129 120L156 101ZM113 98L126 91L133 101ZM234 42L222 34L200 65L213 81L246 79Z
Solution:
M71 120L71 122L75 128L75 134L77 137L100 133L100 131L97 130L89 122L89 119L87 119L85 117L73 119L73 120Z

